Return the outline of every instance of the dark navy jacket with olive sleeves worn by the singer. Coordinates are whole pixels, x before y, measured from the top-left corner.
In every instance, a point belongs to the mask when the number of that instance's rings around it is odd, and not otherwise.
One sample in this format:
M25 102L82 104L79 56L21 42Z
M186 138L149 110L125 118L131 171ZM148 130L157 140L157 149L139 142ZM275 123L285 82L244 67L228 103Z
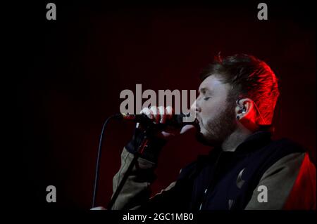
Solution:
M113 191L137 152L137 133L121 154L120 170L113 177ZM208 155L181 169L166 189L150 198L150 185L159 151L165 142L152 140L138 158L113 209L142 211L199 211L242 209L316 209L316 168L297 143L272 140L258 131L235 152L213 148Z

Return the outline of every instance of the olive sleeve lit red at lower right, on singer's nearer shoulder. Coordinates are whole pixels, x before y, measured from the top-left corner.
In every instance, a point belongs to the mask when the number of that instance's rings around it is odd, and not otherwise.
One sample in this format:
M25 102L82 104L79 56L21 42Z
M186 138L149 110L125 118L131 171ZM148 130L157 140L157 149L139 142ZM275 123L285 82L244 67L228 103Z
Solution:
M266 202L261 199L264 189L267 190ZM292 197L289 209L313 209L313 204L316 207L316 168L306 153L292 153L273 164L263 174L245 209L284 209L286 203L290 204L291 193L294 191L297 191L297 195ZM303 196L308 199L305 203L301 203Z

